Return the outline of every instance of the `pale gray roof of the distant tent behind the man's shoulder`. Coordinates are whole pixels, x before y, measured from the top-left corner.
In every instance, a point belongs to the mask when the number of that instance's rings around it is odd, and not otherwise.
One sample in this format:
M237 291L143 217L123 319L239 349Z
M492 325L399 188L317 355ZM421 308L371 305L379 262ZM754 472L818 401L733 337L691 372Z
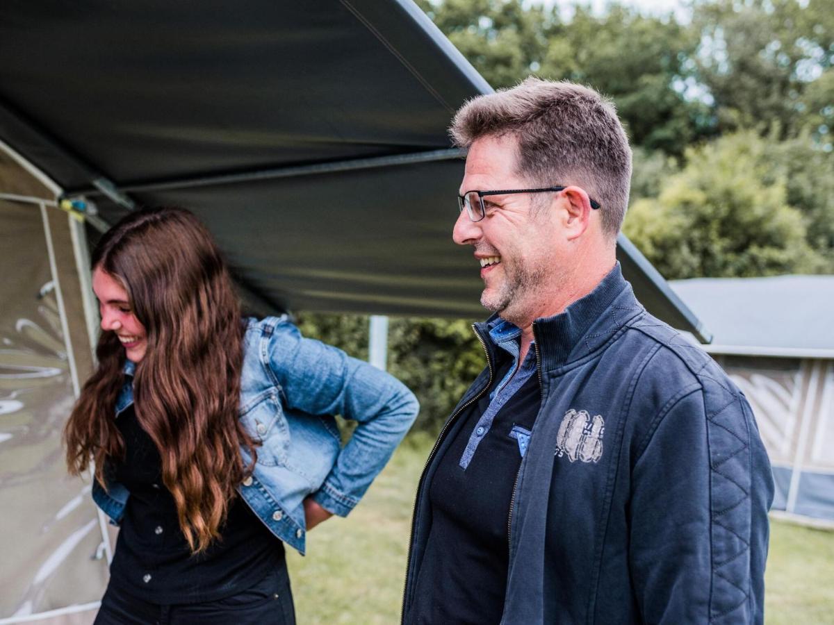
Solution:
M672 288L717 351L834 357L834 276L697 278Z

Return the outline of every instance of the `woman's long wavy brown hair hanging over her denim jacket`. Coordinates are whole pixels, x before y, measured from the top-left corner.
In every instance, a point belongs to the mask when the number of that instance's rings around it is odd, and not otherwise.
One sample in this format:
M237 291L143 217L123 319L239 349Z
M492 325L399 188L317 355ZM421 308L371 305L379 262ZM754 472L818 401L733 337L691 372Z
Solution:
M122 283L145 328L134 410L159 450L179 526L192 552L201 552L219 537L235 486L256 458L238 418L244 328L229 271L208 230L181 208L130 213L104 234L91 260ZM115 333L103 332L96 355L63 438L70 473L85 471L92 458L106 488L108 467L125 451L114 419L125 351ZM253 458L249 466L241 446Z

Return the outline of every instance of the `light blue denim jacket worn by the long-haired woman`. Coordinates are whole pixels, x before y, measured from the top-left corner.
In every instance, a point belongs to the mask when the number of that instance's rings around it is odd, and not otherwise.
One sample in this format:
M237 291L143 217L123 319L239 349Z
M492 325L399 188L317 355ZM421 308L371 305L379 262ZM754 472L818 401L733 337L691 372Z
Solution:
M117 418L133 403L134 370L128 361ZM388 373L303 338L285 317L247 320L240 386L240 418L259 447L239 493L303 555L304 498L346 516L414 422L417 400ZM334 414L359 423L344 448ZM243 448L241 455L250 462ZM114 523L129 494L112 479L107 490L93 480L93 500Z

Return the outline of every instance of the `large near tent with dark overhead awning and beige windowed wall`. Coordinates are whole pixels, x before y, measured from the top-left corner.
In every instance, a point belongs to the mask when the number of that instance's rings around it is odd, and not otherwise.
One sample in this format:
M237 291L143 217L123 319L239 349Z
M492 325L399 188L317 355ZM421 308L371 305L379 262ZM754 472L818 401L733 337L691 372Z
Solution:
M91 366L86 240L138 204L178 204L258 312L481 318L478 268L450 240L463 162L445 128L489 91L409 0L0 5L0 340L23 363L0 397L15 510L0 623L83 612L103 587L105 532L58 449ZM625 238L619 258L653 313L704 338ZM63 390L47 401L48 385Z

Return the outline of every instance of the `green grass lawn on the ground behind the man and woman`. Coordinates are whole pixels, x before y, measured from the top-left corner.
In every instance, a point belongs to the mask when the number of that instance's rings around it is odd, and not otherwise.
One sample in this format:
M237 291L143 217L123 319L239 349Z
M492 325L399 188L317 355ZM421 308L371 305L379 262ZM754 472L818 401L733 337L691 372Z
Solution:
M359 506L288 549L299 623L399 622L414 490L431 448L412 435ZM766 622L834 624L834 532L771 521Z

